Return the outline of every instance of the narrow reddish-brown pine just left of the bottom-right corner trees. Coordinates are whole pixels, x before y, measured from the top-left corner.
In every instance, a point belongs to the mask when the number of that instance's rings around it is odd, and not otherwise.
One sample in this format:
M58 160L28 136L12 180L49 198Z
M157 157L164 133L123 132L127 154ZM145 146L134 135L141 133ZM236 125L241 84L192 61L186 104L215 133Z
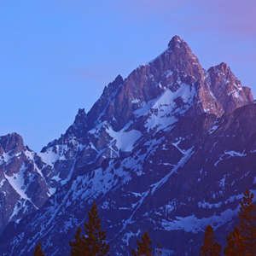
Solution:
M204 244L201 246L201 256L219 256L221 252L221 245L218 244L216 237L213 236L213 229L211 225L207 225L205 232Z

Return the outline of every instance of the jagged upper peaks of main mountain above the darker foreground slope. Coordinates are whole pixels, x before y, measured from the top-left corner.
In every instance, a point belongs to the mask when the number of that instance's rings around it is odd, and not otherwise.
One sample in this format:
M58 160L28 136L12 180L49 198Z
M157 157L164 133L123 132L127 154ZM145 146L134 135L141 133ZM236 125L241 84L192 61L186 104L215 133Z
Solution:
M105 86L90 111L79 109L73 125L42 153L54 152L59 160L55 169L69 169L67 178L76 166L100 166L103 160L131 152L143 134L167 131L180 119L201 113L221 117L250 102L251 91L241 87L230 67L221 63L204 70L188 44L175 36L154 61ZM62 166L61 161L71 157L68 166Z

